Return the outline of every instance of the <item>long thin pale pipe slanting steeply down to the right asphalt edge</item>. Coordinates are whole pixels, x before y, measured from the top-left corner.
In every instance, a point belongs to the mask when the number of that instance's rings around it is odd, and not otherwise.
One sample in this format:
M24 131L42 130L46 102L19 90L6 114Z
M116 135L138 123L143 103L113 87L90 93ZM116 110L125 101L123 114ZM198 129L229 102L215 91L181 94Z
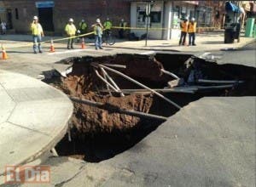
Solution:
M153 89L148 88L147 86L143 85L143 84L140 83L140 82L137 82L137 81L134 80L133 78L126 76L124 73L121 73L121 72L119 72L119 71L113 70L112 68L107 67L107 66L105 66L105 65L99 65L99 66L101 66L101 67L107 69L108 71L112 71L112 72L118 74L119 76L124 77L125 79L128 79L128 80L131 81L131 82L136 83L136 84L139 85L140 87L143 87L143 88L148 89L149 91L151 91L151 92L153 92L154 94L156 94L157 96L159 96L161 99L164 99L164 100L166 100L168 103L170 103L170 104L174 105L175 107L177 107L177 109L181 109L181 108L182 108L180 105L177 105L177 104L174 103L172 100L167 99L164 95L159 94L158 92L154 91Z

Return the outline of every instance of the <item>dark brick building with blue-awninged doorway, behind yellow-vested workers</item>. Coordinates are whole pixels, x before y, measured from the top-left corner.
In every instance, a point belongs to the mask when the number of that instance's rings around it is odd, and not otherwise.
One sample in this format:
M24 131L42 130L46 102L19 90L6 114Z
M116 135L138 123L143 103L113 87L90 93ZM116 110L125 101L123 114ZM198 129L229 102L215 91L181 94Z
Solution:
M130 3L123 0L0 1L0 18L5 20L9 29L15 32L29 32L33 15L39 16L44 31L48 31L49 34L61 34L68 18L73 18L76 25L84 19L90 26L96 18L101 18L103 21L107 17L113 20L114 25L119 24L122 18L129 23Z

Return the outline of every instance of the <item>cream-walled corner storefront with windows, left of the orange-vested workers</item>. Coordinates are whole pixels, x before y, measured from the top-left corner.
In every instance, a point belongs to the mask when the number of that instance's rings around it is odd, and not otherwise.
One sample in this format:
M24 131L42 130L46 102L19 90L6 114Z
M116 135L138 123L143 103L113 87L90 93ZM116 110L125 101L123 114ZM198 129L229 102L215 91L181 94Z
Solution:
M179 37L180 21L187 16L189 16L189 18L195 17L195 7L198 5L198 1L169 0L151 2L151 13L148 19L148 37L167 40ZM147 6L148 2L131 1L131 27L142 28L131 30L137 37L141 37L146 33Z

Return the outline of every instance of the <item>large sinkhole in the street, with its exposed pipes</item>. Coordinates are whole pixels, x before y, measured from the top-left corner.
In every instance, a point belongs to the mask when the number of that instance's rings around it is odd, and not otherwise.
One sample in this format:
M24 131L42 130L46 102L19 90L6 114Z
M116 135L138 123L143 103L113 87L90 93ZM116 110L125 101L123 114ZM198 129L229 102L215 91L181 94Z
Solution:
M256 91L255 68L191 54L84 56L58 63L70 67L44 82L67 94L74 111L70 136L55 149L91 162L131 148L190 102Z

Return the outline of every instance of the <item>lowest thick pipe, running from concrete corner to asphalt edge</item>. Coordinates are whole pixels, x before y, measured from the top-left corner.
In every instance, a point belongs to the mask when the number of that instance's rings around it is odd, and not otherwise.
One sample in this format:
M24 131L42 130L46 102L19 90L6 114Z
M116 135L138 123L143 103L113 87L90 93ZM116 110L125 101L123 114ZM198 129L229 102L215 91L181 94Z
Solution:
M88 99L79 99L79 98L74 98L74 97L69 97L69 98L71 100L73 100L74 102L82 103L82 104L85 104L85 105L96 106L96 107L103 107L104 106L103 103L91 101L91 100L88 100ZM113 108L113 109L103 108L103 109L109 110L109 111L118 111L119 113L130 115L130 116L138 116L138 117L144 117L144 118L150 118L150 119L157 119L157 120L161 120L161 121L166 121L167 120L167 117L165 117L165 116L158 116L158 115L154 115L154 114L148 114L148 113L144 113L142 111L131 111L131 110L120 109L120 108Z

